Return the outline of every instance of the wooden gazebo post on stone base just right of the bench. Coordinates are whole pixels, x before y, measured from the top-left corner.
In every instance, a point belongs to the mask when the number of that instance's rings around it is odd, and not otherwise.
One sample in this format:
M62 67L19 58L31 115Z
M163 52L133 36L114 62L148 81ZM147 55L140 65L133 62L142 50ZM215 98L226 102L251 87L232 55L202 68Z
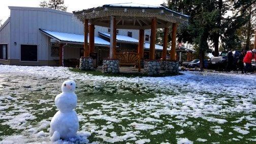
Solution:
M150 48L149 59L154 60L155 56L155 38L156 38L156 17L151 19L151 36L150 36Z

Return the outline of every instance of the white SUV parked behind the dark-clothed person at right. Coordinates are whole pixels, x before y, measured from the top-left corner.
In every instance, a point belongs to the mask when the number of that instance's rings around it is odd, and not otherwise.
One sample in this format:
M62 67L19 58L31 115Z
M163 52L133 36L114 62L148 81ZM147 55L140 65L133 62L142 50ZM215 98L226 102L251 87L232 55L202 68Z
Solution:
M238 57L240 55L240 50L233 51L234 61L238 60ZM228 51L222 51L219 56L210 58L210 67L218 69L218 70L224 70L226 68L228 61Z

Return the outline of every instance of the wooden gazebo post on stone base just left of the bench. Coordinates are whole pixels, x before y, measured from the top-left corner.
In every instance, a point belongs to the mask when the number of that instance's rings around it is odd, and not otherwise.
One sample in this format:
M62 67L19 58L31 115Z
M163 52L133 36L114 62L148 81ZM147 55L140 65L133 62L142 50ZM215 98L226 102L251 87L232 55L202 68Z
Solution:
M110 50L109 58L116 58L116 19L114 16L110 18Z

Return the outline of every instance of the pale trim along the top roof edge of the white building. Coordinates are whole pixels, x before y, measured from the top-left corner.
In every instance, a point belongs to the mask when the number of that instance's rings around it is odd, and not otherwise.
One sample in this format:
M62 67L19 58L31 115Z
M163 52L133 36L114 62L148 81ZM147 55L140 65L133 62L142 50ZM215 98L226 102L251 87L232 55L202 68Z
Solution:
M10 10L31 10L31 11L47 11L47 12L54 12L54 13L60 13L60 14L66 14L66 15L73 15L73 13L65 12L65 11L59 11L55 9L50 8L38 8L38 7L16 7L16 6L9 6Z

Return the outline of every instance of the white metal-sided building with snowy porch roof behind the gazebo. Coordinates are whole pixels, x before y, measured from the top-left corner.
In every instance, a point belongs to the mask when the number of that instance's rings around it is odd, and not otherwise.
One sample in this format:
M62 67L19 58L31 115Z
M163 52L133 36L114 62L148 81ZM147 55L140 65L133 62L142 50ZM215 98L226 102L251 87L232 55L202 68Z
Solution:
M0 27L0 63L10 65L57 65L58 44L63 59L79 59L83 50L83 24L72 13L49 8L9 7L10 17ZM107 27L95 27L95 47L109 49ZM80 35L80 36L79 36ZM138 40L138 30L118 29L118 35ZM82 39L80 39L81 37ZM145 30L149 43L150 30ZM147 49L147 44L145 48ZM162 46L158 46L162 49ZM107 55L105 56L107 57Z

